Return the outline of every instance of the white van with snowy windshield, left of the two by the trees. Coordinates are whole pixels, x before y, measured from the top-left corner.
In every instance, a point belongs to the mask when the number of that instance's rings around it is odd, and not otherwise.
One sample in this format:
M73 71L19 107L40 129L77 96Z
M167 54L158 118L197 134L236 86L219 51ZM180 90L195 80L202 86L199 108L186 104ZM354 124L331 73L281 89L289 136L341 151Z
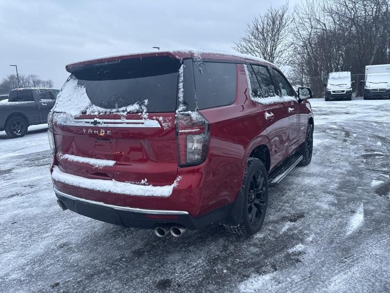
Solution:
M325 101L329 100L352 100L352 85L350 71L331 72L325 87Z

